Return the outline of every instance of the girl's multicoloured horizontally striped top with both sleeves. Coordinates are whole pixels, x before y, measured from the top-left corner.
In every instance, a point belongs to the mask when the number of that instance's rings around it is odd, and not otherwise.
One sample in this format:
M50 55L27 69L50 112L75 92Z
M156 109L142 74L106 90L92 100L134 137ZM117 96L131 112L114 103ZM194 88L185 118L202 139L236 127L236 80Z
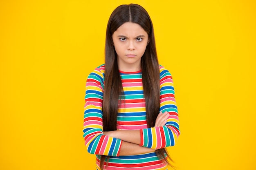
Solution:
M85 93L83 137L88 152L96 154L97 169L99 170L100 155L108 155L110 156L108 170L166 170L166 164L159 160L155 152L119 156L121 139L103 135L104 68L103 64L90 73ZM117 116L117 130L140 130L140 146L154 149L174 146L180 135L173 79L163 66L159 66L159 69L160 111L162 113L167 111L170 114L165 126L147 127L141 71L132 73L120 71L124 89L124 99L122 100L124 101Z

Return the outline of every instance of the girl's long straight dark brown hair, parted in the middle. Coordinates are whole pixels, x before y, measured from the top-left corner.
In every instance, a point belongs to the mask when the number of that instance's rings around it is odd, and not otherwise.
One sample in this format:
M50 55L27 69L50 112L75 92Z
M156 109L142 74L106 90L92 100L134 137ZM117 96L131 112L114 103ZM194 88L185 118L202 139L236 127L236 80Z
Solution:
M155 126L155 119L160 108L159 64L155 47L155 35L152 21L147 11L138 4L121 5L117 7L108 20L105 44L105 83L103 93L103 131L117 130L117 110L119 97L123 95L121 76L117 65L117 53L113 46L112 34L125 22L139 24L148 33L148 45L141 57L141 72L146 102L146 117L148 128ZM157 156L171 166L166 159L169 157L165 148L155 151ZM101 155L100 168L108 156ZM171 158L169 157L171 160Z

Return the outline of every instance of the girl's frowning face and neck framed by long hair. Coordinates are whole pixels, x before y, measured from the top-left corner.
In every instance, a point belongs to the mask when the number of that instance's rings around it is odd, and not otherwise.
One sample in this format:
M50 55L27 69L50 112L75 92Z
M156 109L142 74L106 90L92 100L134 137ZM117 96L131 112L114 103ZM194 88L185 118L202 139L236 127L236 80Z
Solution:
M112 35L117 64L120 71L133 72L141 69L141 57L148 44L148 34L132 22L122 24Z

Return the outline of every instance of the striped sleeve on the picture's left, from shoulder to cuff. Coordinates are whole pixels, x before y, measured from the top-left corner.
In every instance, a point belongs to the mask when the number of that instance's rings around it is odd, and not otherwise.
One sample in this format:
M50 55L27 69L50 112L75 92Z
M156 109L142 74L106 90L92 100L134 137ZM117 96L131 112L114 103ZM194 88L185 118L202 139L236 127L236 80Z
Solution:
M103 73L95 69L86 81L83 137L90 154L119 156L122 141L103 135Z

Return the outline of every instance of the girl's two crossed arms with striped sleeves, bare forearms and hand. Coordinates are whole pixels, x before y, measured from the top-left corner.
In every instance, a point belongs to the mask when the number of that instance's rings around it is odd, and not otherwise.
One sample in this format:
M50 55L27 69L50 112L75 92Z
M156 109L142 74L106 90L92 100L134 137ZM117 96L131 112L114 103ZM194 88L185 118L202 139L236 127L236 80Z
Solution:
M86 82L83 137L87 150L97 155L136 155L173 146L180 135L172 77L168 71L160 74L160 114L155 127L140 130L103 132L103 75L95 70Z

